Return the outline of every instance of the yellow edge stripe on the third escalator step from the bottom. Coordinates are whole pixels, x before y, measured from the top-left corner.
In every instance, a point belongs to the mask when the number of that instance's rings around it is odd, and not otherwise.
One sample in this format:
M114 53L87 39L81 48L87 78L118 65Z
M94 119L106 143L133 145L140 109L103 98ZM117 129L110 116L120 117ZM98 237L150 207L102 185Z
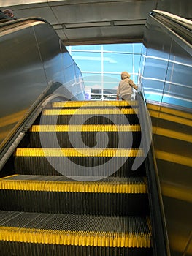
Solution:
M143 157L143 150L111 148L17 148L16 157Z

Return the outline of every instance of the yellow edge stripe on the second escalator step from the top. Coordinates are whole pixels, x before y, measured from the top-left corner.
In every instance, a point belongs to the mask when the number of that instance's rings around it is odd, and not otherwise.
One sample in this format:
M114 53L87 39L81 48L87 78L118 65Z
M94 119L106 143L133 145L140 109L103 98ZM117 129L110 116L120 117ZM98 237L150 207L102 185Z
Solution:
M55 116L55 115L130 115L138 114L138 110L133 108L80 108L80 109L45 109L43 115Z

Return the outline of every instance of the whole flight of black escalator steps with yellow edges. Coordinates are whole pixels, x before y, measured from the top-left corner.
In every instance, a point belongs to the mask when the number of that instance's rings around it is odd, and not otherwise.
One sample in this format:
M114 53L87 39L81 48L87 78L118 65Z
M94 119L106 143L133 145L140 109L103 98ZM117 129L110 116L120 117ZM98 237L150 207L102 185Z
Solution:
M158 255L145 162L132 170L139 115L137 101L43 110L0 179L1 255Z

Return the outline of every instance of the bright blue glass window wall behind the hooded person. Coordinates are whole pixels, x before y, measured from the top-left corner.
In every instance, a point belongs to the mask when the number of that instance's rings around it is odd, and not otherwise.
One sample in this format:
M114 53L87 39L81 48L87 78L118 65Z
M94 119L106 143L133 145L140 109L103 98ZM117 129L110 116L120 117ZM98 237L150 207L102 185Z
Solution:
M91 94L92 90L95 94L104 89L106 97L108 93L116 94L122 71L129 72L137 83L142 46L142 43L79 45L67 49L82 72L85 92Z

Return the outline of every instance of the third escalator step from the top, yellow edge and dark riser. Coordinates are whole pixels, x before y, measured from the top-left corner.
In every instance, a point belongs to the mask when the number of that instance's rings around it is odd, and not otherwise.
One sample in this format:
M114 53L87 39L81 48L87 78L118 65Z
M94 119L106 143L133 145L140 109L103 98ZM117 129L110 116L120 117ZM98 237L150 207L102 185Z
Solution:
M32 148L139 148L139 125L34 125Z

